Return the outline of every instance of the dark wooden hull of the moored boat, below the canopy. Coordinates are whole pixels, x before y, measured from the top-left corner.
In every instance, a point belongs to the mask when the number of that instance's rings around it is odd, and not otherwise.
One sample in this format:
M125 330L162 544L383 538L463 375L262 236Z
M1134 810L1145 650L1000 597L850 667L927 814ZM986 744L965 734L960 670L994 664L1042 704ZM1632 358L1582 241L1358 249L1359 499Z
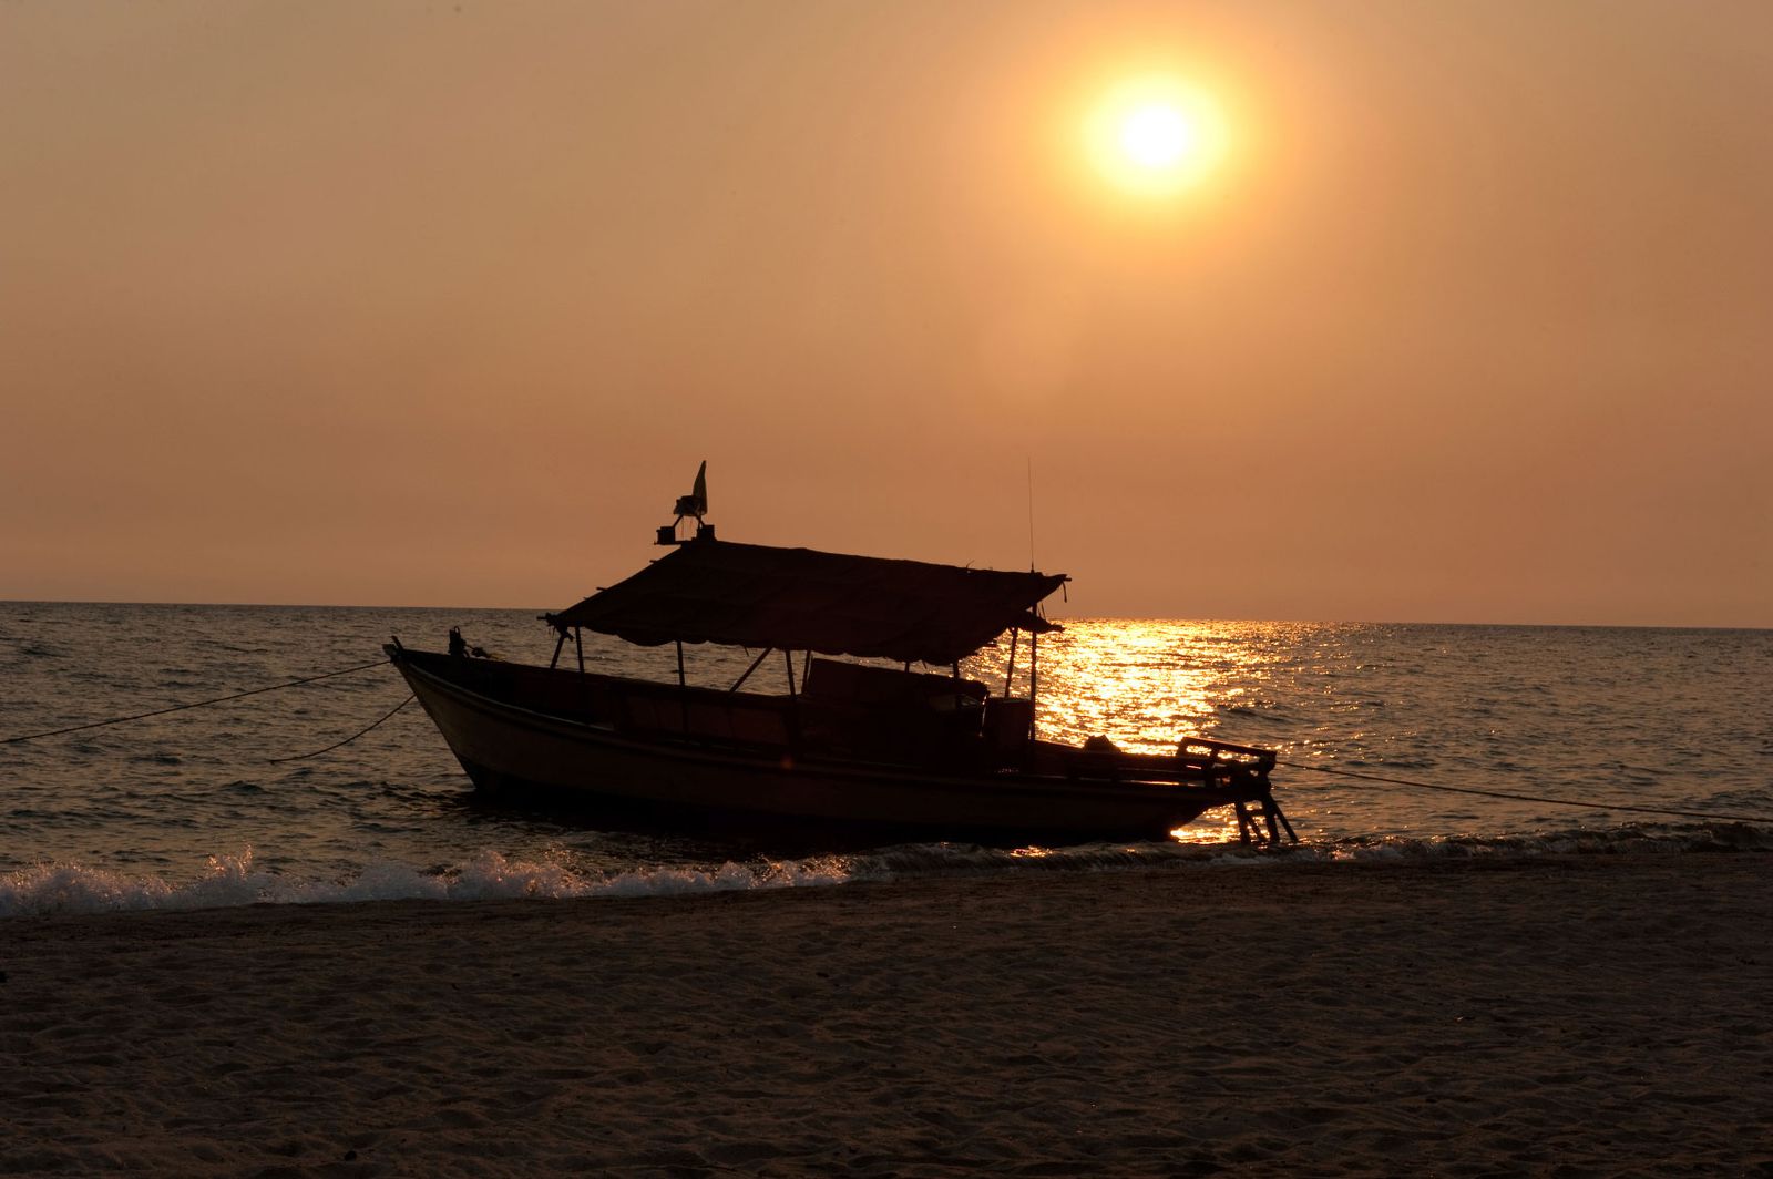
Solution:
M525 707L516 693L500 699L465 674L475 667L472 660L397 645L387 651L480 791L569 803L613 826L867 828L1035 842L1163 839L1204 810L1259 796L1229 782L941 773L661 739Z

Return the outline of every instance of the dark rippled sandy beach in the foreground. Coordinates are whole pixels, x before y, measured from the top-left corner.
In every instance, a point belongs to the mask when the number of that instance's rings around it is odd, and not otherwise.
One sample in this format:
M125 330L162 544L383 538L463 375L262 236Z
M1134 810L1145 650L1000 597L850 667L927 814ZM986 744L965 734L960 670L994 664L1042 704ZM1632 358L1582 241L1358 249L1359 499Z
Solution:
M1773 860L0 922L0 1172L1773 1175Z

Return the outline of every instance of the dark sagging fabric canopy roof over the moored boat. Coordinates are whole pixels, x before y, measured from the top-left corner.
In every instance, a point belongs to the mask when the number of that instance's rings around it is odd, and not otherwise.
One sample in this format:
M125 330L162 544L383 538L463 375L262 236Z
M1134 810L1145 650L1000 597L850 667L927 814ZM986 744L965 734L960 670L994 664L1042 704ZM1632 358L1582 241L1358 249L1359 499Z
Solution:
M644 647L681 640L954 663L1012 626L1053 629L1030 610L1064 582L697 539L544 619Z

